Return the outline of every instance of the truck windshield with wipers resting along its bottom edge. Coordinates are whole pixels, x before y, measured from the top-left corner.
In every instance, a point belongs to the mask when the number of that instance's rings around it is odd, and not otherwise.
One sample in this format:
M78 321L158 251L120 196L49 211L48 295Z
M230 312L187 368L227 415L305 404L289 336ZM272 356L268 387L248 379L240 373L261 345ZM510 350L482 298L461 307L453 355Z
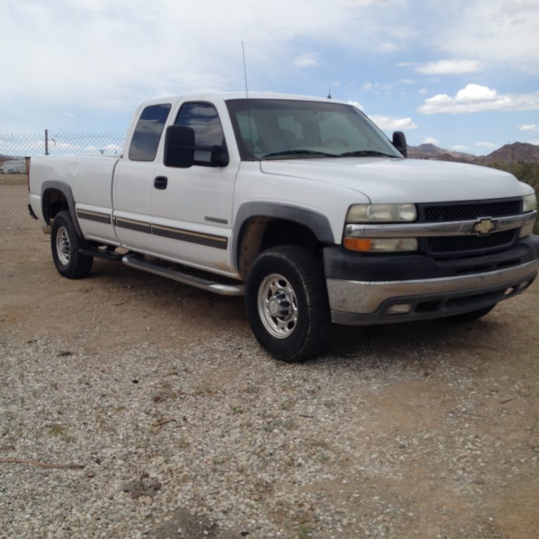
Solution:
M402 157L352 105L331 101L227 101L241 159Z

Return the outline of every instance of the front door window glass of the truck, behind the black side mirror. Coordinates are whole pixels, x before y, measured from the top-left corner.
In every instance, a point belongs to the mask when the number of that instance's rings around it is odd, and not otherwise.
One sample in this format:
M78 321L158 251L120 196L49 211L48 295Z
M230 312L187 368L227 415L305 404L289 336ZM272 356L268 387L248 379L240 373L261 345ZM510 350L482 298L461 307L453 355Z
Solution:
M196 161L209 163L215 147L226 151L221 121L217 110L210 103L185 103L178 112L175 125L193 129L194 143L197 146L194 153Z

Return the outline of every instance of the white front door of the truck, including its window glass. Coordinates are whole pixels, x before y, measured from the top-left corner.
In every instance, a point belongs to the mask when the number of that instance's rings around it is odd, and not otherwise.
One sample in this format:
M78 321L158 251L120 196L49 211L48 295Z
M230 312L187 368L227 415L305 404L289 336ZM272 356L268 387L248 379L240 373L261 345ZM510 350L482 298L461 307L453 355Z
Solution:
M176 125L193 128L197 147L224 147L217 110L208 102L185 102ZM189 168L158 164L154 171L152 231L159 256L234 275L230 258L232 198L238 163L209 166L211 152L195 152ZM204 166L204 161L208 166Z

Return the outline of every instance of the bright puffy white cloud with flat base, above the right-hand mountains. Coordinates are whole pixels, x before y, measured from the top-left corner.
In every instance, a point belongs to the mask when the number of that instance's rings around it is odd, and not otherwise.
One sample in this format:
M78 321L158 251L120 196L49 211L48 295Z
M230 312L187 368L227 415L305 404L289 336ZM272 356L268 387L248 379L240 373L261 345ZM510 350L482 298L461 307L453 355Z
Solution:
M488 86L468 84L453 98L446 93L439 93L428 98L418 111L422 114L467 114L536 109L539 109L539 92L502 95Z

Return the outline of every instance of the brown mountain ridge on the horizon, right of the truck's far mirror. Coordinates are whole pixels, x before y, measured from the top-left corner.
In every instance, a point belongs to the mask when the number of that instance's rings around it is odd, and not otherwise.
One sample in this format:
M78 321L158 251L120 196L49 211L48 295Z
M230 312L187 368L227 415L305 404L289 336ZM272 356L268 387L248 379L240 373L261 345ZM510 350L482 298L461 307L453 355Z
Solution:
M461 163L474 163L489 165L493 163L538 163L539 145L526 142L513 142L506 144L488 155L473 155L464 152L452 152L449 149L439 148L434 144L421 144L408 146L408 157L411 159L436 159L437 161L459 161Z

